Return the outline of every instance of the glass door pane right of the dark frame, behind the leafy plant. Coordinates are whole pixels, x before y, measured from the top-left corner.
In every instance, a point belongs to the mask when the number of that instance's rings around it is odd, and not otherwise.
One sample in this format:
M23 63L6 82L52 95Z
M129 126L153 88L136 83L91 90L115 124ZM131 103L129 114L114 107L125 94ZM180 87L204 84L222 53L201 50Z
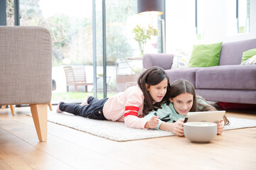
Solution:
M157 29L158 21L139 16L137 0L106 0L107 96L137 85L137 78L144 70L139 44L132 33L136 26ZM159 48L161 41L152 36L146 42L144 54L157 53Z

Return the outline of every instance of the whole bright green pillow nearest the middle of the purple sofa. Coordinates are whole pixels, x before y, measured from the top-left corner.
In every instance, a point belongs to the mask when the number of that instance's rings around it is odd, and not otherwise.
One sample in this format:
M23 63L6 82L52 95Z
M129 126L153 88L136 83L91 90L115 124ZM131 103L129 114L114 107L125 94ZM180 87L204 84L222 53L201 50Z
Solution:
M209 45L193 45L189 67L218 66L222 42Z

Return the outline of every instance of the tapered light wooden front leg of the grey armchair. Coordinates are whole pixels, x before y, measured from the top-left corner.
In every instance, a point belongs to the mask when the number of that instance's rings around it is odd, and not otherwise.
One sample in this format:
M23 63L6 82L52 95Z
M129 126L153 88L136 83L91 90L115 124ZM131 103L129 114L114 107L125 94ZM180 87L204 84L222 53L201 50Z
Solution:
M29 106L31 107L38 140L44 142L47 140L47 104L33 104Z

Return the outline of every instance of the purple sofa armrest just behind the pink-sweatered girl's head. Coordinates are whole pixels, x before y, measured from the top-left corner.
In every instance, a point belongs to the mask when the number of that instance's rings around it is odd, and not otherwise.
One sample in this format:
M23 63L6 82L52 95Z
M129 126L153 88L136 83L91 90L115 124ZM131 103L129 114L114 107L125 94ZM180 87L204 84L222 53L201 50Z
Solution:
M145 54L143 57L143 67L148 69L152 66L159 66L163 69L171 69L174 60L172 54Z

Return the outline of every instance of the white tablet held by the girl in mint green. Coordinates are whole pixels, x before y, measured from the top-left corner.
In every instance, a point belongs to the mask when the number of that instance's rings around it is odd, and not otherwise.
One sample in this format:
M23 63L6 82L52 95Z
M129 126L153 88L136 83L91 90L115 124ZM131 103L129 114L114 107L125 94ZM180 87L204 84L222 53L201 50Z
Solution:
M184 123L186 122L210 122L218 123L223 118L225 111L201 111L188 112Z

